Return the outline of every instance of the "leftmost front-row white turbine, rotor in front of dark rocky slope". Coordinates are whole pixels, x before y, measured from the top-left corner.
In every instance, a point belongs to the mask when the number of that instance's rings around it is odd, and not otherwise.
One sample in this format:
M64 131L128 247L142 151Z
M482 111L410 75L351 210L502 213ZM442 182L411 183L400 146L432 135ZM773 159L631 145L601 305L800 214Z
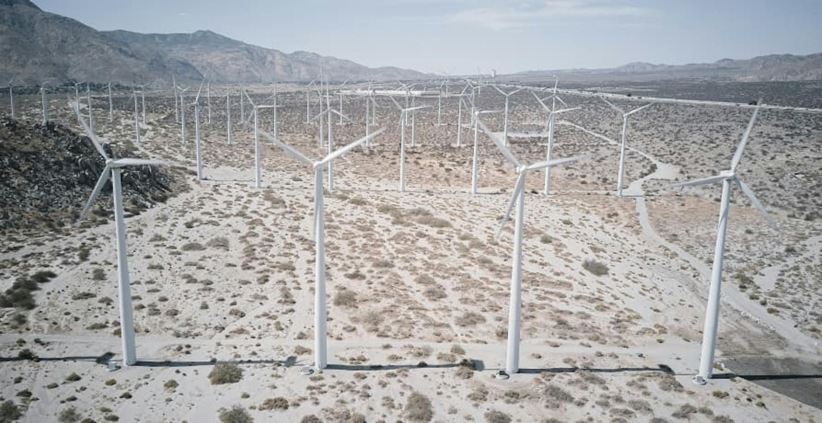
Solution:
M135 96L136 98L136 96ZM79 111L79 106L76 106L76 111ZM95 184L94 191L91 191L91 196L88 202L83 207L78 222L83 220L88 214L91 206L94 205L97 195L103 190L106 182L111 178L114 201L114 229L117 233L117 274L118 274L118 292L120 300L120 338L122 339L122 357L125 366L133 366L137 362L137 354L134 343L134 316L132 309L132 288L130 286L128 277L128 252L126 250L126 219L122 209L122 182L120 179L120 169L127 166L159 166L170 165L171 163L161 162L159 160L146 159L112 159L106 154L103 145L100 145L97 137L94 136L89 127L82 120L80 113L77 113L77 119L80 120L85 133L89 136L91 143L94 144L97 152L105 159L105 168L100 172L100 177Z

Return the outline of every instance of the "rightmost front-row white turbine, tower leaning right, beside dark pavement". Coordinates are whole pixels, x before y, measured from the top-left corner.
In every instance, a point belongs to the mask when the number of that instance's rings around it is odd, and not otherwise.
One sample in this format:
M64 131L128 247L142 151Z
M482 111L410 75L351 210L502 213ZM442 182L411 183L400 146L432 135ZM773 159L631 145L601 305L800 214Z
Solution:
M748 200L750 200L750 204L753 205L757 210L759 210L760 214L762 214L765 220L768 221L769 225L774 228L777 232L779 232L779 228L774 222L774 219L771 218L768 214L768 211L764 208L760 200L756 199L756 195L754 195L754 191L746 185L745 182L742 182L739 177L737 177L737 167L742 160L742 153L745 151L745 147L748 144L748 138L750 137L750 131L754 127L754 122L756 121L756 115L760 112L760 102L756 103L756 108L754 109L753 116L750 117L750 122L748 122L748 126L745 130L745 133L742 135L742 140L737 147L737 152L733 154L733 158L731 159L731 168L719 172L718 175L713 177L703 177L700 179L695 179L689 182L681 182L677 184L672 184L669 186L663 187L663 189L667 188L674 188L677 186L698 186L698 185L705 185L705 184L712 184L715 182L722 182L722 200L720 201L719 206L719 223L717 226L717 241L716 246L713 250L713 269L711 270L711 281L710 287L708 292L708 306L707 310L705 310L705 323L704 329L702 331L702 352L700 354L700 373L694 377L694 382L696 384L706 384L708 379L711 378L713 375L713 355L716 351L716 339L717 339L717 326L719 323L719 300L722 292L722 264L723 264L723 253L725 250L725 232L727 232L727 220L728 220L728 212L730 209L730 200L731 200L731 188L734 183L739 186L742 193L744 193Z

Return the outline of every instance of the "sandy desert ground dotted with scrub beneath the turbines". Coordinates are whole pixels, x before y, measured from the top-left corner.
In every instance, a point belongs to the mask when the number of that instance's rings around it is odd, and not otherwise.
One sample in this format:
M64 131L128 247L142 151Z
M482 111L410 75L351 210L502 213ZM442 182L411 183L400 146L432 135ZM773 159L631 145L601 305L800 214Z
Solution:
M376 87L376 126L386 131L335 160L325 195L330 364L312 375L301 372L314 346L312 168L261 136L254 188L250 108L244 100L242 122L238 90L214 87L211 122L200 99L198 181L193 108L183 141L170 90L150 90L138 145L133 99L115 94L109 122L97 92L104 142L178 164L159 170L176 181L167 200L137 207L125 192L138 364L113 366L122 349L111 189L75 223L90 180L53 224L2 225L0 288L35 283L30 308L0 309L0 412L13 407L21 421L822 421L822 113L764 109L754 126L739 174L780 232L735 191L714 379L700 386L691 378L720 189L663 186L726 169L752 109L654 103L631 116L618 197L621 117L563 93L580 110L558 118L553 157L598 156L553 168L551 195L543 172L526 180L521 371L496 379L513 224L499 240L496 231L516 171L480 131L471 194L469 106L457 146L462 87L441 112L438 85L413 99L431 107L413 116L413 147L406 129L405 192L399 111L384 94L395 85ZM351 122L335 118L335 146L365 135L366 89L345 90ZM272 87L249 90L256 104L272 102ZM318 99L309 98L311 117ZM17 118L40 127L39 95L16 101ZM81 133L72 101L73 88L50 94L49 119ZM328 154L317 122L306 122L305 85L279 85L277 103L279 140L312 159ZM487 86L475 103L504 108ZM544 160L545 113L533 94L512 95L509 113L512 152ZM258 119L274 132L271 109ZM502 113L481 119L501 136Z

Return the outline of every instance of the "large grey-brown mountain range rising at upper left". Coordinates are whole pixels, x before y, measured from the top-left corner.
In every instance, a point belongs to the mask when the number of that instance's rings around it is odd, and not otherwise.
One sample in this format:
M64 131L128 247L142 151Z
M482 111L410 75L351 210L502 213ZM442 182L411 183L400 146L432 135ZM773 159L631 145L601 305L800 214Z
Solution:
M214 32L138 34L98 31L42 11L28 0L0 0L0 81L18 84L75 80L271 82L312 80L322 65L332 80L410 80L430 75L397 67L370 68L315 53L282 53Z

